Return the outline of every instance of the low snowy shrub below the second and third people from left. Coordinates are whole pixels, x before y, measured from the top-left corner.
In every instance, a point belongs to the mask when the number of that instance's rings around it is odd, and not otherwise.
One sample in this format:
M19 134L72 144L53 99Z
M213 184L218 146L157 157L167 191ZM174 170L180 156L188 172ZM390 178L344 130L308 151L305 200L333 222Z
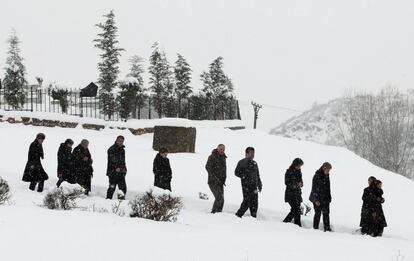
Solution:
M46 194L43 205L48 209L70 210L77 207L76 200L83 194L84 190L81 188L55 188Z

